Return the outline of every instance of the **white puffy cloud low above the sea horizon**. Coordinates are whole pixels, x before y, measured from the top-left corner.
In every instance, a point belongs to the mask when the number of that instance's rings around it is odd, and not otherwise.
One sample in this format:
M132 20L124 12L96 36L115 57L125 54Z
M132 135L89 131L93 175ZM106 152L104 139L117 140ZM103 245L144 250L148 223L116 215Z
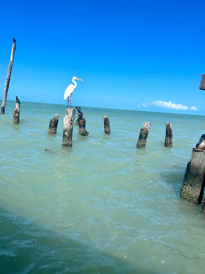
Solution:
M171 101L165 102L165 101L153 101L152 103L142 103L141 106L147 108L148 106L154 106L154 107L162 107L167 109L175 109L175 110L192 110L192 111L198 111L198 109L195 106L192 106L191 108L187 106L183 106L181 104L174 104ZM140 107L140 105L138 105Z

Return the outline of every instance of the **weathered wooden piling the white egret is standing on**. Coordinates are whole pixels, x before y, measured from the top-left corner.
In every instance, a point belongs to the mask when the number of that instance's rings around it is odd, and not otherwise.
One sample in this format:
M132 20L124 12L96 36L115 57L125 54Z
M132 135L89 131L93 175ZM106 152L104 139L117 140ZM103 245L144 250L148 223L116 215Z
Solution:
M67 109L66 116L64 117L64 132L62 145L71 147L72 146L72 130L74 122L75 109Z

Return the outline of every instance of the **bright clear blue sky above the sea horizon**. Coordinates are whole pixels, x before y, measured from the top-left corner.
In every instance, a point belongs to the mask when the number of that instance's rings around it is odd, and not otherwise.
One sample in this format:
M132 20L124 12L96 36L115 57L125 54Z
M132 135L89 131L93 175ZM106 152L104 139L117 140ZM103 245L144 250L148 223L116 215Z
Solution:
M8 1L0 8L0 99L205 115L204 0Z

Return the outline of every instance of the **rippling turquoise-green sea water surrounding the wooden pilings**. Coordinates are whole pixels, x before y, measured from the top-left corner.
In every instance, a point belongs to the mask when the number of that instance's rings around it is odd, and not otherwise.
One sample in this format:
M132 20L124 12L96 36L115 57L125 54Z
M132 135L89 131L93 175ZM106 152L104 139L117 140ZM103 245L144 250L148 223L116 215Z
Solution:
M179 196L204 116L81 107L89 135L74 126L67 148L66 106L22 102L19 124L14 108L0 115L0 273L204 273L202 205Z

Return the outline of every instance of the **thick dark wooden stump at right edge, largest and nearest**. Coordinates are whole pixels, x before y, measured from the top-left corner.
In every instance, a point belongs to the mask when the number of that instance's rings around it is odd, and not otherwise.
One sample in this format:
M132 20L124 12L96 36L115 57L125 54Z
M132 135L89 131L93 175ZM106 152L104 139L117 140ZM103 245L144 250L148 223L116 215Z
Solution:
M205 186L205 150L193 149L187 164L180 196L188 201L201 203Z

